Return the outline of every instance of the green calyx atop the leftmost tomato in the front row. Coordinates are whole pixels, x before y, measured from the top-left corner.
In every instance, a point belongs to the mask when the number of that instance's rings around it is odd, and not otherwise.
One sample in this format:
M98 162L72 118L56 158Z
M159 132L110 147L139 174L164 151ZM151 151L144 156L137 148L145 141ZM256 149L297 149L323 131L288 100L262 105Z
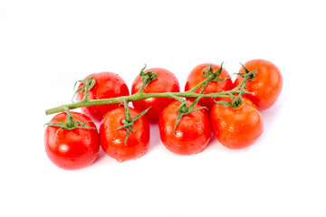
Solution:
M80 120L76 120L72 118L72 112L69 109L66 109L66 120L65 121L58 121L58 122L50 122L46 123L45 125L47 126L52 126L52 127L59 127L58 130L56 131L55 135L58 136L58 131L60 129L65 129L65 130L72 130L75 128L92 128L92 129L97 129L96 127L89 127L86 126L88 122L91 122L91 120L82 122Z

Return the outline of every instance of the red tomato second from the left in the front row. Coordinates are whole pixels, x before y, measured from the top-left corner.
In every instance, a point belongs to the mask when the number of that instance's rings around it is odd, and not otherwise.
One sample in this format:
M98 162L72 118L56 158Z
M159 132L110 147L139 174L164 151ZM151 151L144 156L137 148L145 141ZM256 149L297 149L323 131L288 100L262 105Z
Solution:
M139 114L136 109L129 108L130 118ZM143 156L149 148L149 122L142 116L134 122L129 132L127 143L127 129L118 127L122 126L122 119L125 118L125 109L117 108L110 110L101 121L100 140L101 148L110 157L123 162L126 160L136 159Z

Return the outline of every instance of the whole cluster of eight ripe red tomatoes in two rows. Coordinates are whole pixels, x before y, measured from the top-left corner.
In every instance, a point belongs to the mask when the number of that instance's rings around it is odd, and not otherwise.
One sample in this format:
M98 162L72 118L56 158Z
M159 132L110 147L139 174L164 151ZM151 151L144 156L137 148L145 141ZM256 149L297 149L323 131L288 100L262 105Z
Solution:
M197 87L210 76L209 71L218 71L216 78L212 77L212 80ZM244 75L249 71L254 71L252 78L241 86ZM83 90L86 86L84 82L80 84L76 92L78 101L129 96L126 82L117 74L101 72L87 78L90 77L95 83L90 90ZM83 114L67 110L51 121L60 125L47 126L45 150L51 161L64 169L91 165L98 156L100 146L108 156L119 162L136 159L149 148L149 123L158 123L162 143L177 155L201 152L211 139L212 132L223 146L244 148L262 135L264 121L260 111L273 106L282 87L282 74L270 61L246 62L237 73L235 82L222 65L200 64L189 73L185 92L204 96L240 88L241 91L225 98L187 98L187 101L175 95L170 98L143 98L132 100L133 108L129 107L128 101L124 101L124 107L119 103L94 105L83 107ZM141 71L131 87L131 95L139 97L148 93L173 94L179 91L177 77L162 68ZM69 114L77 122L74 127L65 128L64 119ZM91 120L100 124L99 131Z

